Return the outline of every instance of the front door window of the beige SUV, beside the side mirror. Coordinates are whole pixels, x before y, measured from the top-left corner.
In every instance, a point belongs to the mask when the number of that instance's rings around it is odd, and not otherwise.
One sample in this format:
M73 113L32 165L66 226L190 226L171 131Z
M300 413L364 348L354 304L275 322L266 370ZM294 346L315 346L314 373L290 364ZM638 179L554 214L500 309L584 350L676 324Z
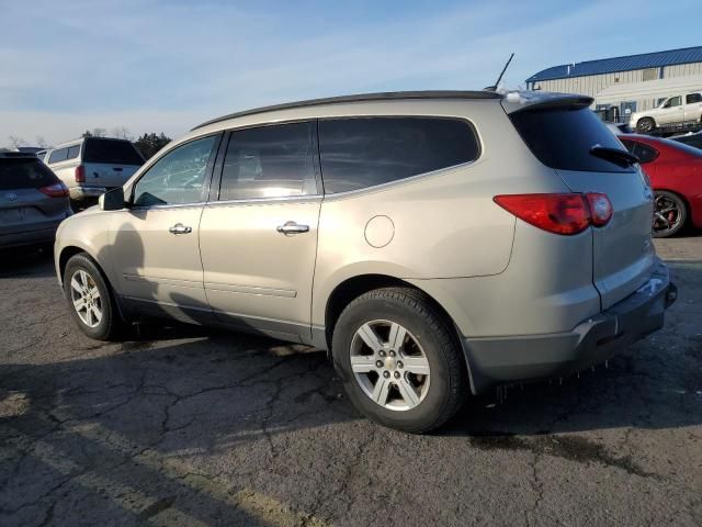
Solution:
M186 143L169 152L137 181L134 204L139 206L203 201L207 161L216 136Z

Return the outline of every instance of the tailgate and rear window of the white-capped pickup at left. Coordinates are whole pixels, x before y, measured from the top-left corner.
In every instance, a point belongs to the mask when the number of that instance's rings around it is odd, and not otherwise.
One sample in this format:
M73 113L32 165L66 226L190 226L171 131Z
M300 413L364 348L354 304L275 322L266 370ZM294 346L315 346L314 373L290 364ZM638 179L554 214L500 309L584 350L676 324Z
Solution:
M88 187L122 187L144 164L134 145L124 139L89 137L82 152Z

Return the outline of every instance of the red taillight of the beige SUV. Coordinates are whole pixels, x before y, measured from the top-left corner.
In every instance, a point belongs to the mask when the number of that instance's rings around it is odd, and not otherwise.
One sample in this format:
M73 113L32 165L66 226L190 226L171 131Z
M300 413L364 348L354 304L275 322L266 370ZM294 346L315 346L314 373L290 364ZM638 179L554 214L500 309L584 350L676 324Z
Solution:
M520 220L554 234L578 234L593 225L601 227L612 217L605 194L503 194L495 203Z

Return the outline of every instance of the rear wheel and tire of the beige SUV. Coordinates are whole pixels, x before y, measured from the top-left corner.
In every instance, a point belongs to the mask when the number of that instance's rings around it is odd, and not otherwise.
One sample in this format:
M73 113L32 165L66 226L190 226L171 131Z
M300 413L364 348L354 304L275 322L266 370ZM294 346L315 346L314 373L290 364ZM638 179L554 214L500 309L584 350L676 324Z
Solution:
M367 327L383 346L377 352L362 333ZM398 328L396 335L404 335L397 346L389 343L393 328ZM389 428L416 434L438 428L458 411L469 389L463 352L450 322L414 289L377 289L353 300L339 316L331 349L353 405ZM359 368L371 371L359 373ZM378 403L372 393L382 379L382 386L389 388Z

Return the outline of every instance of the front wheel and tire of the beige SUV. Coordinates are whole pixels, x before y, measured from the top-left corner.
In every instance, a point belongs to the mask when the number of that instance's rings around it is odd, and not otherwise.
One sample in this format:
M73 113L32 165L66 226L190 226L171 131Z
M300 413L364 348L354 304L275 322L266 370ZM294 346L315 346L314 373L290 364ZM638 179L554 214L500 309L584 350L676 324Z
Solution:
M88 285L83 288L86 295L81 295L79 289L75 287L73 279L76 279L78 285L83 283ZM123 333L124 321L120 315L112 289L95 262L84 253L72 256L66 264L66 269L64 270L64 295L71 317L80 330L90 338L115 340ZM75 303L76 300L82 300L80 310ZM88 307L88 305L93 309ZM97 312L100 313L100 317L95 323L98 319Z

